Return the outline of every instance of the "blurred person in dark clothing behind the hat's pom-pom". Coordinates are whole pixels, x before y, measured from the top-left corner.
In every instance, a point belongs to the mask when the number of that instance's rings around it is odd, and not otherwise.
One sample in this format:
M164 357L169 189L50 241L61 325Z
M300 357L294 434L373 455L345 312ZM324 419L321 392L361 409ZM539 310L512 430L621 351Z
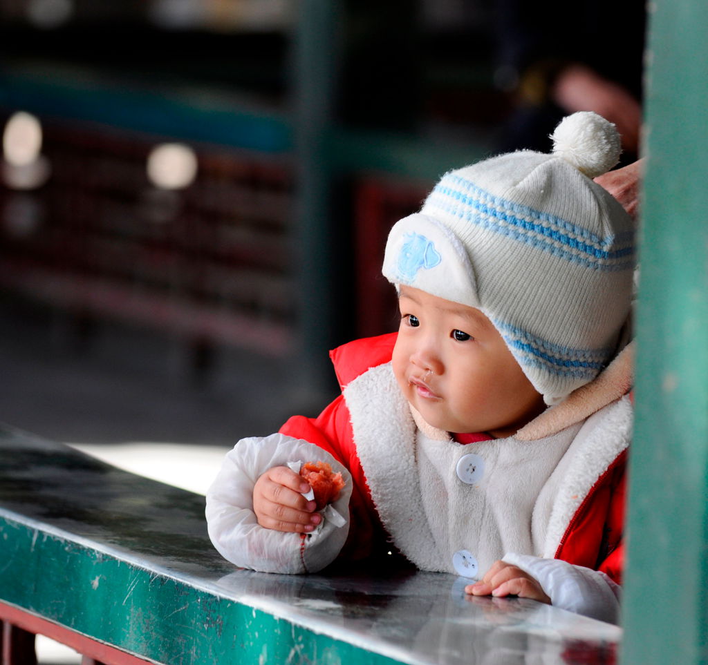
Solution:
M497 83L515 108L499 151L544 151L559 119L592 110L622 135L636 160L641 127L644 0L495 0Z

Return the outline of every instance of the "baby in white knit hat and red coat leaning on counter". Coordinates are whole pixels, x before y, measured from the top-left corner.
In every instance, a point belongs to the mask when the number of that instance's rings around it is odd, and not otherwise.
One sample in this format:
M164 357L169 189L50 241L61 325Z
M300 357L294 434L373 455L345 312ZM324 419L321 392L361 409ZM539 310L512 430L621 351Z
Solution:
M552 138L447 173L394 225L400 329L331 353L342 394L319 417L228 453L206 509L227 560L302 573L396 550L469 594L617 620L634 228L592 180L614 125L576 113ZM345 482L324 511L297 473L317 461Z

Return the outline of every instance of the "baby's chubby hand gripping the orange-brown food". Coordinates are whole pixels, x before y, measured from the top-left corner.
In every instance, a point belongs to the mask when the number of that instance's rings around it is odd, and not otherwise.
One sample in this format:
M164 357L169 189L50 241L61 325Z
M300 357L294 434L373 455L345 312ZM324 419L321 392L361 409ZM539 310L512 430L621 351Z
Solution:
M287 466L268 469L253 487L253 512L258 524L275 531L314 531L322 516L313 512L315 502L302 496L309 490L309 483Z

